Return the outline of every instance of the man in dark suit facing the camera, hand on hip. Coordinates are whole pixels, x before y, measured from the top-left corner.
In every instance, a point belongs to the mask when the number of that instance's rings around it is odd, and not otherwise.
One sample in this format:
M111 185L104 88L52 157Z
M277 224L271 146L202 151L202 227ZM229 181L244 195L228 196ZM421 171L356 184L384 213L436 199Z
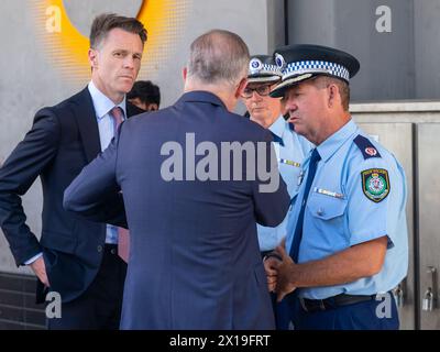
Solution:
M97 16L90 32L88 87L40 110L0 169L0 224L16 265L30 265L36 274L38 302L48 290L63 301L62 318L48 319L50 329L119 327L127 264L117 255L118 229L65 211L63 194L107 147L118 118L142 112L125 103L125 94L138 76L145 41L138 20ZM40 241L25 223L20 198L38 176L44 198Z

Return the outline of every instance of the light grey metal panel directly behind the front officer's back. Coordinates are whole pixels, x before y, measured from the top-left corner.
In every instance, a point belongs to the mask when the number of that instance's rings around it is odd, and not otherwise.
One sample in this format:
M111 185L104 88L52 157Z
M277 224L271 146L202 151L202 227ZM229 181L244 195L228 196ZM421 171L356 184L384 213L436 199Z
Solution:
M400 162L405 169L408 187L407 222L409 243L409 268L408 276L400 284L402 306L399 307L400 329L414 330L416 327L415 305L415 256L414 256L414 132L411 123L358 123L362 130L372 135L373 139L391 151ZM440 163L439 163L440 165Z

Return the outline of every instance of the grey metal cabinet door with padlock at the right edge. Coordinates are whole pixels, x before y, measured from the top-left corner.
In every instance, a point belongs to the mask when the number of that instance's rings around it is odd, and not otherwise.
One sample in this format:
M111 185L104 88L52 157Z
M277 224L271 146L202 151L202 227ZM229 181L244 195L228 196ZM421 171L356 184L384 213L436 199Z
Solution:
M420 328L440 329L440 306L438 301L440 177L437 173L437 167L440 166L440 153L438 152L440 150L440 123L422 123L417 127L417 130ZM433 299L431 307L429 307L429 296ZM424 307L424 304L426 304L426 307ZM432 308L432 310L425 310L424 308Z

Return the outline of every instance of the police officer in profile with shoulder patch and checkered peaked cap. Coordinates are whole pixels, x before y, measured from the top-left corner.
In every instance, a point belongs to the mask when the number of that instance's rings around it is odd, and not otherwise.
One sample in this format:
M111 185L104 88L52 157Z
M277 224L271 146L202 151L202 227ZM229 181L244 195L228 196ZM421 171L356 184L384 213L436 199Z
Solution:
M391 290L406 276L406 180L392 153L351 119L359 62L318 45L275 52L297 133L317 147L305 162L285 245L265 261L295 329L398 329Z

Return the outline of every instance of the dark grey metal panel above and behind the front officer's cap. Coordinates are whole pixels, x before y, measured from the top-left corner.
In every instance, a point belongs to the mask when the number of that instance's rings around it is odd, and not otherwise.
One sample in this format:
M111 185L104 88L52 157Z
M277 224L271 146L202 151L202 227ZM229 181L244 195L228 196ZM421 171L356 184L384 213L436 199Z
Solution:
M428 2L428 8L433 10L431 2L438 0L420 1L422 7ZM424 98L415 97L415 73L418 77L437 77L438 69L436 57L438 45L432 33L439 32L439 25L431 22L430 30L418 29L418 47L414 50L414 0L294 0L287 1L288 42L289 44L310 43L338 47L348 51L361 62L361 70L353 78L352 101L384 101L395 99ZM385 3L384 3L385 2ZM382 14L376 14L380 8L389 9L391 32L377 31L376 23L382 23ZM382 13L380 11L380 13ZM418 11L419 19L416 24L437 21L438 11L429 14ZM438 22L438 21L437 21ZM425 26L426 28L426 26ZM428 35L428 40L422 37ZM431 40L432 38L432 40ZM426 55L426 52L433 55ZM417 53L417 55L415 54ZM435 54L436 53L436 54ZM431 69L426 70L424 65L415 66L415 57ZM429 65L428 65L429 62ZM426 80L430 80L426 78ZM420 86L420 87L419 87ZM437 85L439 86L439 85ZM420 92L429 94L428 97L439 97L439 91L429 91L425 88L433 84L418 82Z

